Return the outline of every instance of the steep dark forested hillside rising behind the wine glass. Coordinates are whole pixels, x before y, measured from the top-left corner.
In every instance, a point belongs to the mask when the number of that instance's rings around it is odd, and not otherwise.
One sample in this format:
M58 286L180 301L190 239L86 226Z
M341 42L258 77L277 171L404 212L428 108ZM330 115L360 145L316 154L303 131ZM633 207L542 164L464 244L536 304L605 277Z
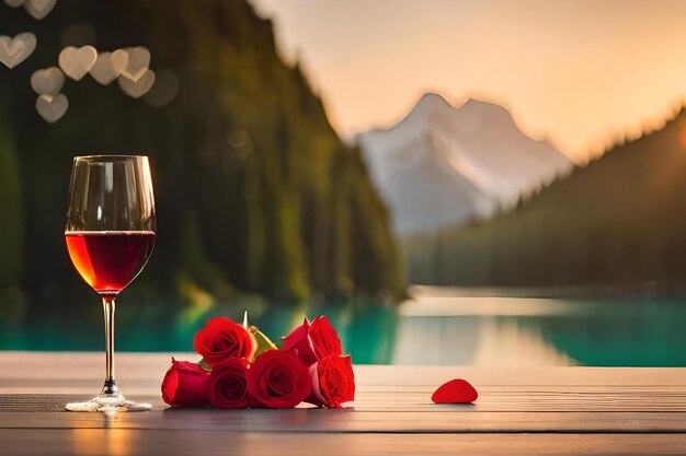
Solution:
M159 234L132 300L402 293L359 151L341 142L300 69L279 58L271 22L245 1L58 1L39 22L0 11L3 34L33 32L38 43L25 62L0 68L0 293L38 306L94 297L62 231L71 159L99 153L151 157ZM87 44L148 47L150 68L171 71L178 94L153 107L116 82L68 79L67 114L45 122L32 73Z

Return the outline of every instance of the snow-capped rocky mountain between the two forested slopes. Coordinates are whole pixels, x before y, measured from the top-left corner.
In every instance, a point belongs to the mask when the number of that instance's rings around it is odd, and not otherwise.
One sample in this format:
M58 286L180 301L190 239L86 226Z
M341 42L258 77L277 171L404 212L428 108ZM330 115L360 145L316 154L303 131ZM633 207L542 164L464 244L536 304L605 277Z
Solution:
M503 107L468 100L455 108L436 94L358 141L401 235L488 218L574 167Z

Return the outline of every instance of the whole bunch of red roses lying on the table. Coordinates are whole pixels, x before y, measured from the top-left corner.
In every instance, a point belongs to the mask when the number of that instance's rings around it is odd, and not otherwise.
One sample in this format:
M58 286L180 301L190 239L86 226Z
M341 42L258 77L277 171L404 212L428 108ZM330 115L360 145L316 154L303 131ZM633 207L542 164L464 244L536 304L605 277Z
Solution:
M325 316L306 318L276 346L254 326L215 317L197 331L198 363L176 361L162 382L170 406L288 409L300 402L342 408L355 398L351 356Z

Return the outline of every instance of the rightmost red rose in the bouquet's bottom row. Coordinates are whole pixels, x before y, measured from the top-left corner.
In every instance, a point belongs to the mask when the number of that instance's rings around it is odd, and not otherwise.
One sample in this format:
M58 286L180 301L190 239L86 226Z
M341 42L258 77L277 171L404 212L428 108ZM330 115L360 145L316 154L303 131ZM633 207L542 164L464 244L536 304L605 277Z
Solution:
M343 404L355 400L355 373L350 354L322 358L309 371L312 395L308 402L340 409Z

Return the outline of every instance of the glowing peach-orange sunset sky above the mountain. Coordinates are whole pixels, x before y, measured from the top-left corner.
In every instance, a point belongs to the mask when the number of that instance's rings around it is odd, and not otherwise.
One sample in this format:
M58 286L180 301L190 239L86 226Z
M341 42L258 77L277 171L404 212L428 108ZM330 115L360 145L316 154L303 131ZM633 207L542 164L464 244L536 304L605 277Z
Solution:
M425 92L502 104L578 162L686 101L686 1L252 0L342 137Z

